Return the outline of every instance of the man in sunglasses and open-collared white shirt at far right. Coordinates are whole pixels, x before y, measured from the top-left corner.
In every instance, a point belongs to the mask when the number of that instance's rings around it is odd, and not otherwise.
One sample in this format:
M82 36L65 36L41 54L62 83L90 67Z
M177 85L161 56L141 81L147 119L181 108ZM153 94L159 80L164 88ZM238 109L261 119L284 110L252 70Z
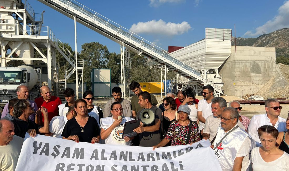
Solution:
M280 106L278 100L267 99L265 101L265 114L254 115L248 126L248 133L256 141L257 147L261 146L261 141L258 136L258 128L263 125L271 125L277 128L279 132L286 131L286 119L280 117L282 106Z

